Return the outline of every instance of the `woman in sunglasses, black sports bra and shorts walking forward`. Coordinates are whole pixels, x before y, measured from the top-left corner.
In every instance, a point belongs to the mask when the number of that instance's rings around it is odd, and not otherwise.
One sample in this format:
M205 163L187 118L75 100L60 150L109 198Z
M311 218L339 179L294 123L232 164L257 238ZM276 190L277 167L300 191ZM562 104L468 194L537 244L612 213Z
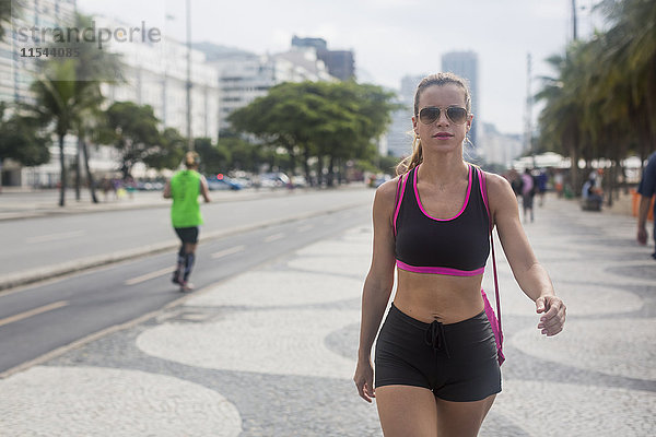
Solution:
M497 175L479 176L462 160L470 107L457 75L423 79L414 95L413 153L397 167L399 176L376 190L353 379L365 401L376 399L387 437L476 436L501 391L481 296L490 223L541 315L538 329L548 336L563 329L565 306L528 244L511 185ZM371 349L394 288L395 263L396 294L376 341L374 374Z

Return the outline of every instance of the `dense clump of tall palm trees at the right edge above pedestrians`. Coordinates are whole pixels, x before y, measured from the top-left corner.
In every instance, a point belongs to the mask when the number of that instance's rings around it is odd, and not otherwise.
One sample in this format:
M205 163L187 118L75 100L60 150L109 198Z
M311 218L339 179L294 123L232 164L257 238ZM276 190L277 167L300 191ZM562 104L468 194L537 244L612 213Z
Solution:
M571 157L574 188L578 158L605 157L613 163L605 178L612 192L622 158L656 149L656 2L605 0L599 8L610 28L550 58L557 75L537 97L546 102L540 143Z

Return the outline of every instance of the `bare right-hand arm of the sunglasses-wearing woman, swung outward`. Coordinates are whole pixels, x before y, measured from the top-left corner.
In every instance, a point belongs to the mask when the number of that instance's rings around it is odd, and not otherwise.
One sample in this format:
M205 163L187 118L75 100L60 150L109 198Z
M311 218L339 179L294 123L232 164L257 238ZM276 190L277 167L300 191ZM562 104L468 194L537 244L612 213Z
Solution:
M485 175L492 220L513 275L524 293L536 303L537 312L544 312L538 329L548 336L555 335L563 330L565 305L555 296L549 274L528 243L511 185L501 176Z

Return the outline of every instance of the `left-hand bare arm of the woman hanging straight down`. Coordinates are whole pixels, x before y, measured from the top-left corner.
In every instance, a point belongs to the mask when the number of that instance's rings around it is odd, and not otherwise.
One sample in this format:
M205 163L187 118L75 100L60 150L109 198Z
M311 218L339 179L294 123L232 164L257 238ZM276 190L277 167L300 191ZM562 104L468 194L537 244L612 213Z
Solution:
M395 236L393 215L397 179L383 184L376 190L373 208L374 248L372 264L362 291L362 318L358 367L353 380L358 392L367 402L375 398L372 345L383 320L394 286Z

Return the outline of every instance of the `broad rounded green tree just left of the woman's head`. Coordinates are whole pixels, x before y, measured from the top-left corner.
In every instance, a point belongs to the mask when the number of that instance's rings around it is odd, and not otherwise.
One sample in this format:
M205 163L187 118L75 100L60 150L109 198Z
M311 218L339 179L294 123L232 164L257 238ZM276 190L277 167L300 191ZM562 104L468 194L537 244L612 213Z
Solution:
M230 116L232 126L254 134L262 146L282 146L290 166L303 156L305 176L311 180L311 157L318 161L323 175L328 157L329 184L332 169L349 158L375 155L376 140L386 129L393 93L355 82L283 83L267 96Z

